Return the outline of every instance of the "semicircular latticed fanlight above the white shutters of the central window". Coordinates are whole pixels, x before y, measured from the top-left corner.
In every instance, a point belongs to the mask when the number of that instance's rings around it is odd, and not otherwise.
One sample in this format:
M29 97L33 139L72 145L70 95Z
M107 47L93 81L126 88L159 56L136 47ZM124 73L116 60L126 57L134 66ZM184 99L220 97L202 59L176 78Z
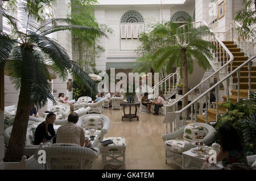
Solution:
M122 15L121 23L144 23L144 18L138 11L130 10Z

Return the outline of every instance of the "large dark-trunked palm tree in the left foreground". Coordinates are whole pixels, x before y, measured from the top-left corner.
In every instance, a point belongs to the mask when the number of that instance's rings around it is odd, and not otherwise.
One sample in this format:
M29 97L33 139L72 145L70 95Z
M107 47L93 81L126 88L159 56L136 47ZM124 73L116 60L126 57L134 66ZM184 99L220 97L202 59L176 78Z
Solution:
M67 51L47 35L64 30L81 30L96 36L106 36L96 28L76 26L70 19L41 19L36 6L39 3L50 5L51 0L35 0L19 2L20 17L13 18L5 10L5 16L11 26L15 39L0 32L0 68L7 68L11 82L19 90L19 100L13 129L5 161L19 161L24 154L27 123L30 107L33 103L38 108L43 107L47 98L55 102L50 92L47 66L51 66L64 81L71 73L78 83L87 87L94 85L88 74L71 61ZM42 10L42 9L41 9Z

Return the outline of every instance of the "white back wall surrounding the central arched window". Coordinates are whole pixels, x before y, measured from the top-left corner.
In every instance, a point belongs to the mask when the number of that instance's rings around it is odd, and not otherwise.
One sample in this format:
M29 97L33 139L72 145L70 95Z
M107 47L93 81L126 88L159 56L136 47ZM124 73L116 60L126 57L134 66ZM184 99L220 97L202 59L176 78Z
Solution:
M100 45L106 49L105 52L100 53L100 58L96 58L96 69L105 70L106 61L135 61L138 57L137 53L134 52L138 47L138 40L122 40L120 38L120 19L121 16L129 10L136 10L143 15L145 31L150 32L148 26L162 22L162 11L163 21L170 20L172 14L176 11L183 10L193 16L195 5L189 6L163 6L162 10L159 6L122 6L120 7L105 7L95 6L94 14L98 23L105 23L112 28L114 33L109 35L108 39L102 38ZM129 43L127 43L129 41Z

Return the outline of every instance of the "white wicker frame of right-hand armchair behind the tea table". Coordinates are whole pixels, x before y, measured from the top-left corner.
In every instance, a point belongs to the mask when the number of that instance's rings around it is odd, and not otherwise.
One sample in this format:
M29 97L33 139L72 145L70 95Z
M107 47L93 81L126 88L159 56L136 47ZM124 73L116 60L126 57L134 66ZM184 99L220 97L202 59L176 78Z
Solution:
M205 131L207 133L207 135L200 140L200 142L203 142L205 145L210 144L213 139L214 139L214 132L215 129L209 125L209 124L205 124L205 123L194 123L196 126L199 127L204 127ZM162 138L163 141L168 141L168 140L179 140L180 136L183 136L184 134L184 128L187 125L184 125L183 127L181 127L179 130L173 132L173 133L168 133L168 134L163 134ZM190 142L189 144L185 144L184 145L184 151L190 150L191 148L195 148L196 146L192 144L192 142ZM174 161L175 163L177 163L177 165L181 166L182 165L176 161L177 158L180 158L182 156L182 153L175 153L174 151L170 151L168 149L166 149L166 163L168 159L171 159L172 161Z

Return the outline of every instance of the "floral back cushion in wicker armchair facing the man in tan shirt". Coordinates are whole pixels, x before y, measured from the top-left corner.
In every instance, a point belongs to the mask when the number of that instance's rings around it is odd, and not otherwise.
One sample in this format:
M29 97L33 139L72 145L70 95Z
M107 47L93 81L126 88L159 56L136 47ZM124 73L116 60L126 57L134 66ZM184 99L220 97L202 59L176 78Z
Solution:
M100 116L87 116L82 120L82 128L102 129L104 121Z

